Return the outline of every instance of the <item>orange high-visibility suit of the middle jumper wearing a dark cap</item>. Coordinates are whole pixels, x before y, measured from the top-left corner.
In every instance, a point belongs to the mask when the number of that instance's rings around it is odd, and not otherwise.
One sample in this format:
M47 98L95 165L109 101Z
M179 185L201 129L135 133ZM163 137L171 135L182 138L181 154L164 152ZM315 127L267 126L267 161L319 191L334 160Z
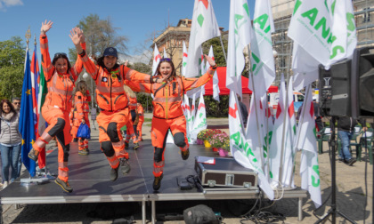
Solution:
M108 70L95 65L85 52L79 55L88 74L96 83L96 101L101 112L96 117L99 124L99 141L112 169L119 166L119 158L128 159L125 141L120 132L129 120L125 80L150 83L150 75L142 74L124 65Z

